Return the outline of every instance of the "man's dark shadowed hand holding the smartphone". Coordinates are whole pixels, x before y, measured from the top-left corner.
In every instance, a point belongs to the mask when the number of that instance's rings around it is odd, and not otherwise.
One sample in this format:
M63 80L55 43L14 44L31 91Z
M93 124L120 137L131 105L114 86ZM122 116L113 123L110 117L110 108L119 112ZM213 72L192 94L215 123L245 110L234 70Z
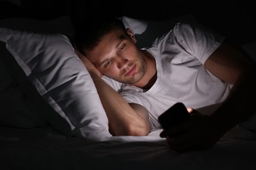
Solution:
M177 124L170 129L160 133L160 137L166 137L171 148L178 152L189 152L192 150L203 150L210 148L222 136L223 129L206 116L192 110L189 120Z

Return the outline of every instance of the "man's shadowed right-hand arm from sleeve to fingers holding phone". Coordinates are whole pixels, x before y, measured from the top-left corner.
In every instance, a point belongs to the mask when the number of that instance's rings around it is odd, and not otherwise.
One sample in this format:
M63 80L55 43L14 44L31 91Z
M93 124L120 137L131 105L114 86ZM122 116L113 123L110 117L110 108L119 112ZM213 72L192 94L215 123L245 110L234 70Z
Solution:
M226 131L255 112L256 64L242 48L224 41L204 65L213 75L234 86L226 101L211 116L193 114L190 120L161 133L161 137L167 137L171 148L180 152L209 148ZM176 135L179 133L181 135Z

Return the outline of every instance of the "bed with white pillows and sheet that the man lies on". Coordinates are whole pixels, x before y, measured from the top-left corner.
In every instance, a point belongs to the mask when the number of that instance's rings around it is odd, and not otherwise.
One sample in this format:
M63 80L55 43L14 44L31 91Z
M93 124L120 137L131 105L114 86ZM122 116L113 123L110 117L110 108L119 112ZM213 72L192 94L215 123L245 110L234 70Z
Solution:
M177 20L196 20L120 19L139 46ZM0 20L1 169L256 169L256 135L238 127L212 148L182 154L169 148L161 129L110 135L93 81L72 48L73 33L70 16ZM241 45L256 56L256 41Z

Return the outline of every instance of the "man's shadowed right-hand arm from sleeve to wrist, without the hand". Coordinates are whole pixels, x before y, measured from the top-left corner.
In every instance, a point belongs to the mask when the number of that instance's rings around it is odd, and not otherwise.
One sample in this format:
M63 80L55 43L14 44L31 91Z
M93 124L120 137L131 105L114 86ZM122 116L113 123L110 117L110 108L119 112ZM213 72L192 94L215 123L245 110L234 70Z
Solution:
M213 120L230 129L255 112L256 63L240 46L224 41L205 61L205 68L234 84L226 101L212 114Z

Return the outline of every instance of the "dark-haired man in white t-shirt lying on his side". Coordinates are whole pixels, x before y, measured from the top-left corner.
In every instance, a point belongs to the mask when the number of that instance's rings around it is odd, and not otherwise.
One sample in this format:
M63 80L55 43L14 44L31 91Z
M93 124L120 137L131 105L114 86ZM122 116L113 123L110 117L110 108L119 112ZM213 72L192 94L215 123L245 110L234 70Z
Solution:
M136 41L131 29L108 17L91 18L75 33L77 54L95 82L112 135L148 135L161 127L162 112L182 102L198 114L160 135L179 152L200 150L255 112L255 61L222 35L180 22L151 48L140 49ZM122 83L121 95L102 75Z

